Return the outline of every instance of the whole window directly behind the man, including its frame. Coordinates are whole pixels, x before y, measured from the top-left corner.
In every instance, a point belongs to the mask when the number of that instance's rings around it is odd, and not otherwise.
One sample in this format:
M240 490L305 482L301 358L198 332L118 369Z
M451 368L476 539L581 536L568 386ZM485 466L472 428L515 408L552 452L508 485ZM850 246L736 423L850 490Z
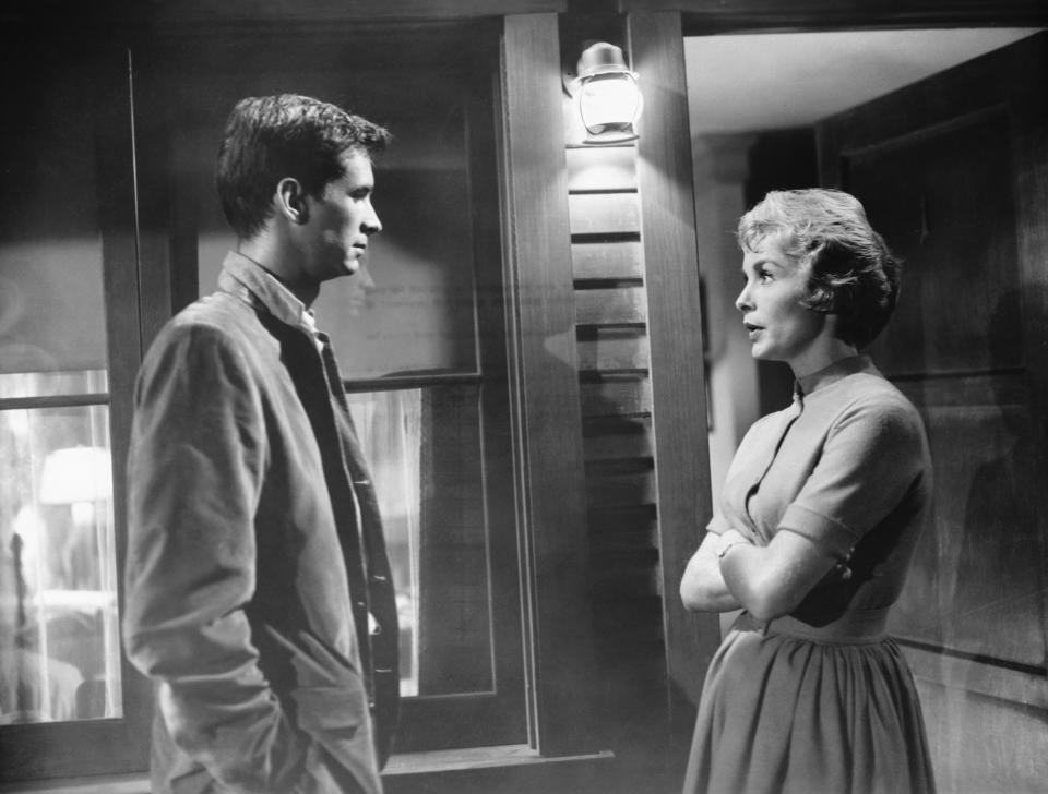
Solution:
M315 37L306 50L293 43L282 57L257 45L215 48L150 92L178 108L164 147L180 185L172 268L189 288L179 302L214 290L235 244L213 173L237 99L311 94L393 133L376 164L383 231L366 268L325 284L313 309L349 392L393 565L400 751L528 741L496 111L490 88L461 50L449 57L443 36L419 35L412 58L381 74L369 71L368 46L345 38L331 50ZM169 69L153 76L167 80Z

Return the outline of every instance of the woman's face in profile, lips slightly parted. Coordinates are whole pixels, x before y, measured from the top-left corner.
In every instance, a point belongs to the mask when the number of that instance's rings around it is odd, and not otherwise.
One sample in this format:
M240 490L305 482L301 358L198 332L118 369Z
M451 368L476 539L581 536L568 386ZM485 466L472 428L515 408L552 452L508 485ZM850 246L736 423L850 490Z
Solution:
M742 257L743 287L735 301L742 312L754 359L785 361L797 375L822 369L827 315L800 301L808 296L808 270L783 253L777 237L760 241Z

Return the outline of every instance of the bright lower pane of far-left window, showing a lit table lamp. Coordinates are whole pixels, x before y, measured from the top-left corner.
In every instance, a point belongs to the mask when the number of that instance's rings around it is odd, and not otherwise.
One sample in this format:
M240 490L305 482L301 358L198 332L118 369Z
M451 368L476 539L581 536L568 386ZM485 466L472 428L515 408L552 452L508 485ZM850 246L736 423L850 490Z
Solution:
M0 722L120 717L106 406L0 411Z

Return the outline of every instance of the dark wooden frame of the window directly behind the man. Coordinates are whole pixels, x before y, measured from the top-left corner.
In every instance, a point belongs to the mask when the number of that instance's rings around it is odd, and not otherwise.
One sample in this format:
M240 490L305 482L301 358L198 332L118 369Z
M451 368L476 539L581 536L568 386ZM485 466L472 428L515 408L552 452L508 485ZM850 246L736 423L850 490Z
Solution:
M477 366L473 372L406 373L390 377L348 377L349 392L376 392L419 388L451 384L477 384L488 394L481 399L481 435L488 460L500 469L496 477L486 472L486 502L489 530L489 588L492 597L492 643L495 646L495 687L491 691L413 696L402 700L400 729L394 753L429 753L465 749L490 745L526 745L534 736L533 702L528 700L528 670L523 621L526 605L522 596L523 579L520 554L522 541L519 510L517 461L503 447L512 433L513 418L511 377L507 371L507 304L504 300L501 205L498 176L498 83L499 21L463 20L456 23L413 24L414 50L405 55L398 68L408 69L416 60L432 58L436 63L453 58L460 73L466 143L466 189L472 207L463 209L472 220L472 249L475 263L475 327ZM401 26L377 25L365 34L367 52L380 52L401 35ZM349 47L361 33L353 27L334 25L319 38L305 26L281 29L290 47L300 46L311 57L325 46ZM429 37L429 38L427 38ZM136 133L139 175L142 192L148 194L141 212L141 250L148 267L142 273L142 303L145 344L159 330L171 314L196 299L199 285L196 196L199 180L187 176L179 164L175 142L178 112L191 108L171 108L164 104L165 81L177 80L179 59L192 59L201 38L187 43L184 34L175 34L157 43L136 74L136 96L150 98L139 115L150 119ZM308 45L300 45L306 41ZM184 45L184 47L183 47ZM215 41L216 47L221 41ZM237 39L235 47L248 51L254 46L250 35ZM430 51L427 51L430 47ZM207 57L212 57L212 49ZM321 59L322 60L322 59ZM367 56L361 56L367 63ZM193 64L191 68L200 68ZM367 115L367 109L361 107ZM394 131L395 135L395 131ZM396 145L395 137L394 144ZM382 192L382 160L377 164L377 185ZM157 201L157 195L165 200ZM381 212L381 206L380 206ZM485 333L495 328L498 333ZM501 389L503 397L492 390ZM502 425L501 438L489 429ZM496 455L498 453L498 455ZM492 457L493 456L493 457ZM499 482L493 482L498 480ZM499 496L491 494L491 489ZM498 504L495 504L498 503ZM491 513L499 515L491 517ZM139 676L141 677L141 676Z

